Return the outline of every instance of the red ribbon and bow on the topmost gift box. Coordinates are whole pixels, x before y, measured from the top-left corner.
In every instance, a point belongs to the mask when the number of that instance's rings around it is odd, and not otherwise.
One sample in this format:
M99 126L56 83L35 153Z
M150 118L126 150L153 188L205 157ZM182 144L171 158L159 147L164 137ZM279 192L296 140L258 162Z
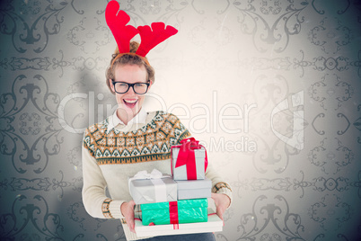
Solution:
M202 146L199 145L199 141L195 138L184 138L181 140L180 152L177 156L177 162L175 168L186 165L187 166L187 179L188 180L197 180L197 165L196 165L196 156L194 149L200 149ZM205 160L205 172L207 170L207 152Z

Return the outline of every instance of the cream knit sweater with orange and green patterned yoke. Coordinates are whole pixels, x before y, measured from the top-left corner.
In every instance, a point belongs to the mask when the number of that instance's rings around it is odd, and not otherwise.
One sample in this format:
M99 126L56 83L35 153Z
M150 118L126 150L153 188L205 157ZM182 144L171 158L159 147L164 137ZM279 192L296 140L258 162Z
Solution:
M111 118L114 116L84 132L83 202L85 210L94 218L122 219L121 204L132 200L128 177L142 170L150 173L154 168L163 174L172 174L171 147L179 144L181 139L189 138L190 134L171 113L148 112L145 121L133 123L130 127L118 125L110 128ZM212 192L225 193L232 200L229 184L216 174L211 165L208 165L206 175L212 180ZM128 227L123 225L123 228L129 234Z

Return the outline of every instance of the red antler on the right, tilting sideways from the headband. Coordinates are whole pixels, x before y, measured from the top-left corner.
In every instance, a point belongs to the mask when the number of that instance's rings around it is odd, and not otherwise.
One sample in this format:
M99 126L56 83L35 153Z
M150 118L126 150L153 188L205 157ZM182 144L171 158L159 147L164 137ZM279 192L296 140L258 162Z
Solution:
M168 25L166 29L164 29L164 26L165 24L163 22L153 22L153 31L148 25L139 26L137 28L140 34L140 39L142 40L139 48L136 50L137 55L145 57L150 49L153 49L156 45L163 42L163 40L168 39L178 32L170 25Z

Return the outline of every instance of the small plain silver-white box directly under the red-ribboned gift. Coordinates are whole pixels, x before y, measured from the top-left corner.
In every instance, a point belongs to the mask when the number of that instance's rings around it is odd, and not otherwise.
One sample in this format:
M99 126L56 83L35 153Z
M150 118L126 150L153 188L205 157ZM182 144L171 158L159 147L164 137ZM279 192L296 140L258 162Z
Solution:
M212 181L207 179L207 177L204 180L175 182L178 185L178 200L202 199L211 197Z

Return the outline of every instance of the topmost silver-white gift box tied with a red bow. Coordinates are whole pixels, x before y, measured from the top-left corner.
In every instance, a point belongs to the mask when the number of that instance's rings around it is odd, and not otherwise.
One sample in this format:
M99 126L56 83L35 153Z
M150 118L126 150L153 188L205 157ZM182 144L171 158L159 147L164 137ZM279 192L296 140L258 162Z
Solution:
M207 152L194 138L181 140L172 146L172 174L174 180L202 180L206 177Z

